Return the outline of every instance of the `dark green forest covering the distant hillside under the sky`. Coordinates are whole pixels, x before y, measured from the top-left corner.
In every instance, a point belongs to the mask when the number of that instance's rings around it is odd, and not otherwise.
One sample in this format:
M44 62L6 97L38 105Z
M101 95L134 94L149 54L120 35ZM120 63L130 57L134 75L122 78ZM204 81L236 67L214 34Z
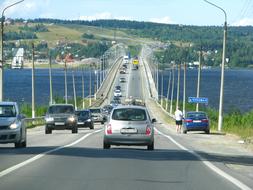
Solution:
M16 21L22 21L17 19ZM212 54L212 58L207 60L207 65L218 66L220 64L223 27L222 26L186 26L172 24L158 24L151 22L137 22L125 20L58 20L58 19L34 19L28 20L34 23L54 23L54 24L79 24L124 30L126 33L144 38L152 38L172 46L164 51L163 62L170 62L173 59L182 59L182 55L196 60L196 52L200 46L204 54ZM191 48L178 47L178 42L194 44ZM173 45L174 44L174 45ZM172 50L172 48L175 48ZM195 52L195 53L194 53ZM167 54L170 55L167 55ZM181 56L181 57L180 57ZM227 35L227 55L230 67L252 67L253 66L253 27L230 27Z

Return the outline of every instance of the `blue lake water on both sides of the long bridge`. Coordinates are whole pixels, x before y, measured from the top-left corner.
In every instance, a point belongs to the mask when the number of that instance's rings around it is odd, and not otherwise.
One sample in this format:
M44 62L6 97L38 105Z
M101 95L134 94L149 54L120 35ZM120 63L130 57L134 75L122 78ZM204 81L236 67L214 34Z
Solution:
M35 96L36 104L48 104L49 102L49 72L48 69L35 70ZM186 97L196 96L197 70L187 70L187 90ZM75 71L76 94L82 96L82 72ZM85 76L85 96L89 95L90 72L84 71ZM64 96L64 70L53 69L53 94L54 96ZM92 72L92 84L94 84L95 74ZM159 75L161 84L161 72ZM167 94L169 71L164 71L164 96ZM183 71L181 72L180 100L183 95ZM177 72L175 72L174 98L176 99ZM92 85L93 86L93 85ZM159 85L161 87L161 85ZM92 88L92 92L94 89ZM161 92L161 88L159 88ZM159 93L160 94L160 93ZM217 108L219 106L220 94L220 70L202 70L202 80L200 86L200 97L209 99L209 106ZM72 74L68 72L68 95L73 96ZM31 103L31 69L4 70L4 97L5 100ZM242 112L253 109L253 70L225 70L224 81L224 110L228 112L232 107L240 109Z

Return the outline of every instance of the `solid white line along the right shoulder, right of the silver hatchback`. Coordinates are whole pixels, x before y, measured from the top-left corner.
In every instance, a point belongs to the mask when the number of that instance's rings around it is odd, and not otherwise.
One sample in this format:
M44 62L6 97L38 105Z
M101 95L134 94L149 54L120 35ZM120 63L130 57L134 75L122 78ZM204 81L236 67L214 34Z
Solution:
M241 181L239 181L238 179L232 177L231 175L227 174L226 172L222 171L221 169L217 168L215 165L213 165L211 162L206 161L202 156L200 156L199 154L197 154L195 151L193 150L189 150L186 147L184 147L183 145L181 145L180 143L178 143L176 140L174 140L171 136L166 135L164 133L162 133L161 131L159 131L157 128L155 128L155 131L166 137L167 139L169 139L171 142L173 142L175 145L177 145L180 149L185 150L191 154L193 154L194 156L196 156L197 158L199 158L208 168L210 168L211 170L213 170L215 173L219 174L220 176L222 176L223 178L227 179L228 181L230 181L231 183L233 183L234 185L236 185L237 187L239 187L240 189L243 190L252 190L250 187L248 187L247 185L245 185L244 183L242 183Z

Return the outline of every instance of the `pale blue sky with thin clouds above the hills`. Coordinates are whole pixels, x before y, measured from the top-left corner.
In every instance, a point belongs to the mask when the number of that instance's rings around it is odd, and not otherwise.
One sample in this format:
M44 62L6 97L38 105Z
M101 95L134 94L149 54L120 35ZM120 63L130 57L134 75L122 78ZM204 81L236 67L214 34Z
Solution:
M0 11L18 0L0 0ZM253 0L210 0L226 10L229 25L253 25ZM125 19L183 25L223 25L224 14L204 0L25 0L10 18Z

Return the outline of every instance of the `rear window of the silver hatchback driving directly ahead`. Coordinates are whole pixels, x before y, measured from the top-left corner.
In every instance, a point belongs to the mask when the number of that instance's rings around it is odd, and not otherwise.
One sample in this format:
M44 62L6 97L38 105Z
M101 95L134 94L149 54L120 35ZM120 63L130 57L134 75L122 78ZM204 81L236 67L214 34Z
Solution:
M147 115L143 109L119 108L113 111L112 119L123 121L145 121L147 120Z

